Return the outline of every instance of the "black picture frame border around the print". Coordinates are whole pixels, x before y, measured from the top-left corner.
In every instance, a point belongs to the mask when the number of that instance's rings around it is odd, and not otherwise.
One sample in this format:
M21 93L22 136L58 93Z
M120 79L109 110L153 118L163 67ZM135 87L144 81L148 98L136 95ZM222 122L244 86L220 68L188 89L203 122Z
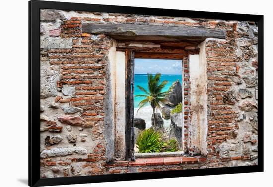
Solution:
M223 20L240 20L258 22L258 137L259 159L256 166L240 166L226 168L207 168L179 171L111 174L99 176L79 176L66 178L40 179L39 172L39 88L40 64L39 62L39 10L61 9L74 11L111 12L125 14L144 14L160 16L198 17ZM110 181L128 181L157 178L173 178L186 176L219 175L233 173L262 172L264 168L263 147L263 15L156 9L128 6L110 6L98 4L67 3L52 1L29 1L29 186L67 185L82 183L98 183Z

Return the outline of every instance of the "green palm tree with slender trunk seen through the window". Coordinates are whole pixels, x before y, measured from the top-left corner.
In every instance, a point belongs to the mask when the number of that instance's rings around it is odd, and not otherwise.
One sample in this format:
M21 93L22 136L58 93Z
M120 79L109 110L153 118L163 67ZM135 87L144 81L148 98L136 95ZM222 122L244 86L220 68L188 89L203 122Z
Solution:
M153 110L153 122L156 130L156 120L155 120L155 108L161 108L160 103L167 103L168 99L166 98L167 92L161 92L168 81L164 80L161 83L160 77L161 74L157 73L155 76L147 73L148 75L148 91L143 87L137 85L137 87L144 92L144 95L136 95L135 97L144 97L144 99L139 102L137 112L145 105L150 104Z

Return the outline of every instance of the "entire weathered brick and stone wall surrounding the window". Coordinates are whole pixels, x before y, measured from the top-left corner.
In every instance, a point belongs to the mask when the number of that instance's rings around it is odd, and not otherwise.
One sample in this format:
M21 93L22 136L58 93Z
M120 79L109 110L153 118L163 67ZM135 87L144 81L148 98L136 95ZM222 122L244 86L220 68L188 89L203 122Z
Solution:
M41 10L40 20L42 178L158 171L179 169L182 165L190 169L257 163L255 23L61 10ZM108 102L109 51L113 40L105 35L82 33L83 23L155 24L226 31L226 40L208 39L206 44L207 158L181 157L175 164L167 162L168 166L160 159L142 160L140 168L127 161L124 166L117 163L115 169L107 164L109 154L114 154L107 148L114 141L114 137L109 137L111 115L107 113L112 109ZM184 73L186 76L187 72ZM191 106L187 107L186 127L191 125ZM185 142L189 142L190 133L185 131Z

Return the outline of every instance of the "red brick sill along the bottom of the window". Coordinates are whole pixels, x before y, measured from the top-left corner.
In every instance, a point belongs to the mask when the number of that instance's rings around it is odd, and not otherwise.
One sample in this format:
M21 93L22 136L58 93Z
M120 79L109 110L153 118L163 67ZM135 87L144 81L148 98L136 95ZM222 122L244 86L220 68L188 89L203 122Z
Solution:
M180 165L180 164L196 164L199 162L207 162L205 157L155 157L155 158L136 158L135 161L115 161L108 163L108 167L128 167L128 166L159 166L159 165Z

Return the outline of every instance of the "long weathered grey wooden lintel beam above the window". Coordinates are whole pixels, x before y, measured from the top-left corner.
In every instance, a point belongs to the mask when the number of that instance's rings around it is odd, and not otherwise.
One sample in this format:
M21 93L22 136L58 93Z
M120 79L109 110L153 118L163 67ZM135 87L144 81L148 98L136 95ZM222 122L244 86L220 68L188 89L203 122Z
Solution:
M203 41L206 38L226 38L226 32L219 29L137 24L85 23L82 32L105 34L117 40Z

